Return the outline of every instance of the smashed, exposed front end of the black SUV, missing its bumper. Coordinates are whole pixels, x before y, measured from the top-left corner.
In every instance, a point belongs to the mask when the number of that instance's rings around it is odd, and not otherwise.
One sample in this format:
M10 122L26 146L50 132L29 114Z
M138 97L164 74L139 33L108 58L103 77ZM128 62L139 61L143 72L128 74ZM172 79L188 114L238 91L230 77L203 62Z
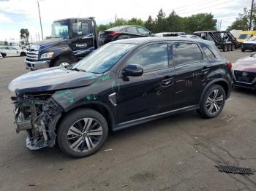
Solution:
M51 98L51 94L17 94L12 97L15 104L16 132L26 130L26 147L40 149L53 147L56 141L56 123L62 109Z

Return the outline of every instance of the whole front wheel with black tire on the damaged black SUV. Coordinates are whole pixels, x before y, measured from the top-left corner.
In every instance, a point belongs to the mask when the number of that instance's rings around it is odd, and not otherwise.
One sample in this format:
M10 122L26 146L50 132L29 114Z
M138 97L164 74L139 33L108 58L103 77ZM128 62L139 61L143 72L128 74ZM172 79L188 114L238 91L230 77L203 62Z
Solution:
M91 122L89 127L92 127L95 125L95 122L98 122L100 126L98 128L101 128L102 133L101 136L91 136L91 135L82 135L78 136L78 133L73 133L74 131L71 130L73 127L76 128L76 130L79 130L80 127L85 128L86 127L86 121L84 119L94 119L94 122ZM77 125L79 122L84 121L85 123L80 123L80 125ZM87 122L88 125L89 122ZM91 125L92 124L92 125ZM97 126L95 126L97 128ZM95 128L94 127L94 128ZM91 131L90 131L91 130ZM89 133L95 133L96 131L93 128L89 128ZM71 132L71 135L70 135ZM97 131L99 132L99 131ZM68 135L69 133L69 135ZM87 133L87 131L86 131ZM59 127L58 127L58 145L64 154L69 155L70 157L88 157L89 155L93 155L95 152L97 152L105 143L105 141L108 138L108 122L105 120L105 118L102 116L102 114L99 114L99 112L96 112L93 109L77 109L73 112L70 112L67 114L66 117L61 121ZM99 138L100 137L100 138ZM75 138L75 139L74 139ZM80 141L78 141L80 139ZM95 142L97 140L97 144ZM70 141L74 141L71 142ZM75 144L75 141L78 141L78 144ZM94 143L93 143L94 141ZM87 144L89 143L89 145ZM71 145L70 145L71 144ZM79 149L79 151L75 151L74 147L72 146L75 144L77 147L76 149ZM95 144L95 145L93 145ZM90 148L91 147L91 148ZM86 149L86 150L84 150ZM83 152L81 152L83 150Z

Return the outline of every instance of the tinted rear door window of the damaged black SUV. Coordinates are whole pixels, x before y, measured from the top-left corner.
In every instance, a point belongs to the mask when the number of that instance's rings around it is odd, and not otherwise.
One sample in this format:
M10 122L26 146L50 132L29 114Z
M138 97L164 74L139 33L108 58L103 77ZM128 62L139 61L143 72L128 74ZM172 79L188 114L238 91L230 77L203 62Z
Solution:
M176 42L173 45L173 55L178 64L203 61L203 55L195 43Z

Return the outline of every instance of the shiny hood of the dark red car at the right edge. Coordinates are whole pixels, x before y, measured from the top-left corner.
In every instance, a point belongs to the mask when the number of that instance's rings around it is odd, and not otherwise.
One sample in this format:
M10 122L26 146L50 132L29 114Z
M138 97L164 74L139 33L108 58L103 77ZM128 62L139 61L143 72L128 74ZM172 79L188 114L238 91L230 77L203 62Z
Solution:
M255 72L256 73L256 58L244 57L233 63L233 70Z

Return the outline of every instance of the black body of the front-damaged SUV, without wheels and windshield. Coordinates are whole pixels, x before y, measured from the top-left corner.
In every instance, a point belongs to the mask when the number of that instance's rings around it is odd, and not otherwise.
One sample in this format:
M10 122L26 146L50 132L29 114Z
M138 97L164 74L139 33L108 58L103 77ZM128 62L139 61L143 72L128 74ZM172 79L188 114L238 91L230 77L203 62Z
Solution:
M42 116L46 119L46 121L43 120L46 128L56 129L54 124L58 124L60 117L65 117L73 109L83 106L100 112L108 120L110 129L118 130L169 114L198 109L202 96L213 84L221 85L225 89L226 98L230 95L231 71L227 68L226 61L217 47L212 43L179 37L138 38L110 42L110 44L120 43L135 45L113 67L102 74L53 68L33 71L14 79L9 89L17 94L17 97L12 99L16 105L15 119L18 121L18 131L27 130L30 132L29 140L34 140L31 138L33 134L31 130L34 130L33 127L40 126L40 124L34 126L31 122L29 115L26 114L31 109L28 110L26 106L42 108L39 110L42 110ZM182 43L184 43L183 47ZM200 59L195 62L181 63L182 59L177 51L181 51L179 48L187 48L190 45L195 46L200 52ZM125 77L122 71L129 59L136 58L138 52L147 48L157 50L153 47L159 47L159 52L167 50L165 57L160 58L160 63L163 61L167 65L154 70L149 68L148 71L144 68L144 73L140 77ZM191 47L189 50L191 51ZM214 58L208 58L206 50L211 50ZM195 54L196 52L193 51L191 51L192 54ZM189 58L192 55L187 56ZM155 58L154 55L148 54L148 59ZM135 61L139 60L135 59ZM25 106L23 106L24 103L26 103ZM26 120L22 114L20 117L20 110L23 111L21 113L25 113ZM23 120L19 122L18 119ZM25 128L24 121L29 124ZM49 122L52 123L49 124ZM45 132L47 134L47 131ZM37 136L43 140L42 134ZM33 148L41 148L40 145L52 147L55 136L50 140L48 144L45 141L42 141L43 144L34 143ZM27 144L31 145L31 141L27 141Z

